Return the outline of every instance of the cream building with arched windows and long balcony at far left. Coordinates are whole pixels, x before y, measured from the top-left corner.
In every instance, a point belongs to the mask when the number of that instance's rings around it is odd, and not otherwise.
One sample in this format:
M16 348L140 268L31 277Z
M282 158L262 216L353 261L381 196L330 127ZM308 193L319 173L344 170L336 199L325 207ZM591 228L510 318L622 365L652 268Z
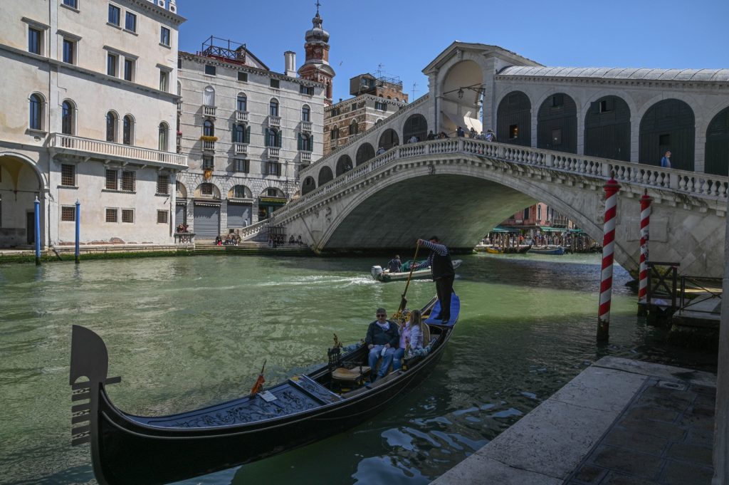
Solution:
M169 243L174 0L4 2L0 247Z

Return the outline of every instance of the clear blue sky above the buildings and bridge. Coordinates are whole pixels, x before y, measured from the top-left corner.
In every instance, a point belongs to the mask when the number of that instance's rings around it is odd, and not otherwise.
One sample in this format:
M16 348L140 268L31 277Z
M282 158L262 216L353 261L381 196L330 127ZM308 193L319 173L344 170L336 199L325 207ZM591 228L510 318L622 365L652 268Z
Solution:
M177 0L187 22L180 50L196 52L214 35L247 45L284 71L284 51L304 62L304 34L316 0ZM334 99L349 78L399 76L416 98L422 69L454 40L495 44L545 66L729 68L729 0L321 0L329 31Z

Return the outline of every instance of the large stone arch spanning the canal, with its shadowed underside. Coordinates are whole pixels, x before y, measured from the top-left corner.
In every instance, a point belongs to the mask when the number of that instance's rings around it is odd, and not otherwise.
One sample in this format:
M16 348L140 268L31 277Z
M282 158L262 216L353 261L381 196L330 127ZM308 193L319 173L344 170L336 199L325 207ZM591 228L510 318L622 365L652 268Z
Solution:
M431 233L443 235L453 249L472 249L488 230L535 201L547 203L585 233L601 239L594 214L575 209L576 204L562 197L564 190L554 190L545 182L515 179L502 171L453 164L435 165L433 175L431 166L406 166L358 191L356 198L335 211L319 250L402 249L413 247L416 238ZM413 186L418 187L416 193L409 190ZM371 238L373 228L381 236Z

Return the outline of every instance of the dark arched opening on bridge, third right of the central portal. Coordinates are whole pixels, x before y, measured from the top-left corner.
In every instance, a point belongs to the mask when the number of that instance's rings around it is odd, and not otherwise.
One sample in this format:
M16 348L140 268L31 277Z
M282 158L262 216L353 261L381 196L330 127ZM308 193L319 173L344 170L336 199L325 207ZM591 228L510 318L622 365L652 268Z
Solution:
M585 155L631 160L631 109L623 98L603 96L590 103L585 115Z

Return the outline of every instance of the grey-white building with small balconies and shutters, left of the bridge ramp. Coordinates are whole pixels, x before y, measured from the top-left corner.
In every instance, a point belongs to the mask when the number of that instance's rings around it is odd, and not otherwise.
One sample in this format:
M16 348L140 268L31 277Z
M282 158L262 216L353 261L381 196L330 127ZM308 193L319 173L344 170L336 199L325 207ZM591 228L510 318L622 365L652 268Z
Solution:
M265 220L321 157L327 86L295 77L294 53L282 60L286 74L213 37L179 53L177 141L190 168L177 183L175 223L198 240Z

